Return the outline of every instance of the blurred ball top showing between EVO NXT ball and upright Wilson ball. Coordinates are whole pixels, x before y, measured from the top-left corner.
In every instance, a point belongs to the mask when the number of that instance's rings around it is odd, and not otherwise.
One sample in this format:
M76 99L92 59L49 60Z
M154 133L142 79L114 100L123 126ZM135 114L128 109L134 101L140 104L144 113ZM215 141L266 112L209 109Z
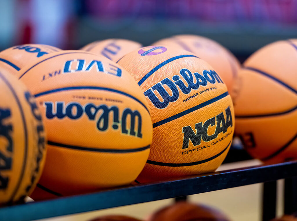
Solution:
M141 46L142 45L136 41L110 38L103 41L89 43L80 50L93 52L96 55L102 55L107 57L109 60L117 62L121 59L121 57L135 49L140 48Z

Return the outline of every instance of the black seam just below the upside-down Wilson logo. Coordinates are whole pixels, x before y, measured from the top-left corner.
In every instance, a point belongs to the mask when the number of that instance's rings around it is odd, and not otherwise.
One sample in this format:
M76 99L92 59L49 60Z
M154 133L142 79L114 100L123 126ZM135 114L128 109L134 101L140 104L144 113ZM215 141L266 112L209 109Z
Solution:
M140 147L135 149L125 149L125 150L119 150L119 149L100 149L100 148L93 148L93 147L79 147L79 146L73 146L68 144L60 144L53 141L48 141L49 145L57 146L57 147L65 147L69 149L75 149L75 150L85 150L85 151L93 151L93 152L105 152L105 153L132 153L132 152L139 152L143 150L149 149L149 146L146 147Z

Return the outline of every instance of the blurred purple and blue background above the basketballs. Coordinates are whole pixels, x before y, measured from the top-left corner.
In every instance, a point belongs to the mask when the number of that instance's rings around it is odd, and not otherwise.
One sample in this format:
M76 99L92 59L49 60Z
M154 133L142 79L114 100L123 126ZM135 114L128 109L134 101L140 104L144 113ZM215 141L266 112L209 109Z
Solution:
M0 49L43 43L79 49L127 38L149 45L176 34L218 41L243 61L297 35L297 0L3 0Z

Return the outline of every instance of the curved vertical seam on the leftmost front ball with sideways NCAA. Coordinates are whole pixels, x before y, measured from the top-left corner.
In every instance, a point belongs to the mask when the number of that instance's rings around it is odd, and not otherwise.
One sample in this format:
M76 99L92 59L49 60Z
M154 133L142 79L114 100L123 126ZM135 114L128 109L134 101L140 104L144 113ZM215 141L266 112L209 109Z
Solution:
M10 202L12 202L13 201L13 198L15 197L16 192L18 191L18 189L20 187L20 183L23 180L24 173L25 173L25 168L26 168L26 164L27 164L27 155L28 155L28 131L27 131L27 124L26 124L26 119L25 119L24 111L23 111L22 105L20 104L20 100L18 99L18 96L15 93L15 90L12 88L12 86L10 85L10 83L8 82L8 80L1 73L0 73L0 78L8 86L8 88L10 89L12 95L15 97L15 101L17 102L18 108L20 109L20 114L21 114L21 118L22 118L22 121L23 121L23 127L24 127L24 140L25 140L25 144L24 144L23 165L22 165L22 170L21 170L21 173L20 173L20 177L19 177L18 183L17 183L14 191L12 192L12 195L11 195L10 200L9 200ZM14 150L14 151L16 151L16 150Z

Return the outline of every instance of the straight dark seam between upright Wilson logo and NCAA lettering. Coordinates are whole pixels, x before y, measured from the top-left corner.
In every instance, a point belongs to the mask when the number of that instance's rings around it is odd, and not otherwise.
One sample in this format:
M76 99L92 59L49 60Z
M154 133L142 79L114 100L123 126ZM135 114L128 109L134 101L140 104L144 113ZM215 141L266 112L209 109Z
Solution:
M210 104L212 104L212 103L214 103L214 102L216 102L216 101L218 101L218 100L220 100L220 99L222 99L222 98L228 96L228 94L229 94L228 91L226 91L225 93L220 94L220 95L217 96L217 97L211 98L211 99L209 99L208 101L205 101L205 102L203 102L203 103L201 103L201 104L198 104L198 105L196 105L196 106L194 106L194 107L192 107L192 108L189 108L188 110L182 111L182 112L177 113L177 114L175 114L175 115L173 115L173 116L171 116L171 117L168 117L168 118L166 118L166 119L163 119L163 120L161 120L161 121L158 121L158 122L156 122L156 123L153 123L153 128L158 127L158 126L160 126L160 125L162 125L162 124L166 124L166 123L168 123L168 122L170 122L170 121L173 121L173 120L175 120L175 119L178 119L178 118L180 118L180 117L182 117L182 116L184 116L184 115L187 115L188 113L192 113L193 111L197 111L197 110L200 109L200 108L203 108L203 107L205 107L205 106L207 106L207 105L210 105Z

